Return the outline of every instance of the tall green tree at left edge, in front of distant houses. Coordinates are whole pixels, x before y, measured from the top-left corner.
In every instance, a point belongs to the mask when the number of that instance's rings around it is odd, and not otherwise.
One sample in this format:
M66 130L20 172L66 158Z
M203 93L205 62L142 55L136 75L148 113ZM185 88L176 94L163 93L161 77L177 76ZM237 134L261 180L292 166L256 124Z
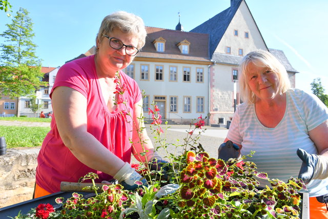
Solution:
M35 55L33 23L28 14L26 9L20 8L12 24L7 24L8 29L0 34L7 43L0 46L0 93L17 99L17 117L20 97L35 93L39 86L46 86L42 82L41 61Z

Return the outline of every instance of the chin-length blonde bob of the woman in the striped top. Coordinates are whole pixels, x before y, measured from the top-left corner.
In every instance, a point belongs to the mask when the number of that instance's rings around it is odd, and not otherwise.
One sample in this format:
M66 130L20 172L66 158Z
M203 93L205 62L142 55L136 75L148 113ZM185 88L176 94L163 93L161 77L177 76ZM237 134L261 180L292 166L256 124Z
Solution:
M259 67L268 67L278 77L278 92L282 94L291 88L291 82L285 67L278 61L278 59L270 52L265 50L254 50L245 55L239 65L241 72L239 77L240 95L244 102L255 103L256 96L248 85L247 73L249 71L249 64L253 63Z

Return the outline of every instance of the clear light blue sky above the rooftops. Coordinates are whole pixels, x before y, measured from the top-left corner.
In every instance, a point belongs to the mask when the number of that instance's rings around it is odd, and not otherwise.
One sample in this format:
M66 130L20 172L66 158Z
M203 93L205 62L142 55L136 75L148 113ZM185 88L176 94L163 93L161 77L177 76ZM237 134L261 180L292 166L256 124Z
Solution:
M44 67L58 67L95 45L103 18L118 10L134 13L145 25L175 29L180 23L190 31L230 7L230 0L9 0L12 16L27 9L33 22L36 55ZM311 82L321 78L328 94L327 62L328 1L245 0L268 48L283 50L296 74L296 88L311 91ZM12 17L0 11L0 33ZM0 37L0 44L4 38Z

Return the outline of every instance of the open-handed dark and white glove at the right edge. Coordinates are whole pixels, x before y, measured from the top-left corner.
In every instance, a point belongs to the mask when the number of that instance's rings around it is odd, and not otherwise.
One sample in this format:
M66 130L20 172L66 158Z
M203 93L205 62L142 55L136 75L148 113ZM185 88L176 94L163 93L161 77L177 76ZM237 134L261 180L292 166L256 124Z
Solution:
M328 177L328 157L310 154L303 149L297 150L298 157L303 161L298 178L305 184L311 180L324 180Z

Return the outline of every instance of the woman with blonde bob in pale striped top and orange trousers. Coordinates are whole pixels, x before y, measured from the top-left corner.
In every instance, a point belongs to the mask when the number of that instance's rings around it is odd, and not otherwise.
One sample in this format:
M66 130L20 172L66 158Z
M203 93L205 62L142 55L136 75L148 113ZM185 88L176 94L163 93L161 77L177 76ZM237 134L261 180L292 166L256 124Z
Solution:
M303 192L310 196L310 218L328 218L323 201L328 201L327 107L317 96L292 89L284 66L268 51L245 55L240 70L245 103L238 106L224 141L234 146L223 143L219 157L237 157L234 150L242 155L255 151L247 159L258 172L283 182L301 178L308 189Z

